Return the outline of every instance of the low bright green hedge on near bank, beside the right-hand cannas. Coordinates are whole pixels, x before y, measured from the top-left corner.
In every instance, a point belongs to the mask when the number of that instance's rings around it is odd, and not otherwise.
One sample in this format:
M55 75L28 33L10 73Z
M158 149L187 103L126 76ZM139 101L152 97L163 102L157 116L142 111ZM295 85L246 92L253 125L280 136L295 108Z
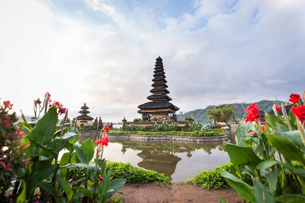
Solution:
M203 189L220 189L222 187L227 188L228 184L224 178L219 174L219 169L229 171L229 167L232 165L231 162L216 166L212 170L200 171L197 175L193 176L192 179L185 180L185 184L201 185ZM244 181L252 185L252 179L250 176L246 177Z

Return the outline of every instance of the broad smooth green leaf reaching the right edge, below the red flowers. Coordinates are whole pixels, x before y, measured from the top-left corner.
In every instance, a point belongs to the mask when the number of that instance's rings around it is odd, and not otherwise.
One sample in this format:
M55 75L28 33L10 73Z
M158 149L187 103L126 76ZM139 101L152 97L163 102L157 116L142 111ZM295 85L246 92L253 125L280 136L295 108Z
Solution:
M299 161L305 166L304 153L296 145L284 138L269 133L267 138L270 145L275 147L285 158Z

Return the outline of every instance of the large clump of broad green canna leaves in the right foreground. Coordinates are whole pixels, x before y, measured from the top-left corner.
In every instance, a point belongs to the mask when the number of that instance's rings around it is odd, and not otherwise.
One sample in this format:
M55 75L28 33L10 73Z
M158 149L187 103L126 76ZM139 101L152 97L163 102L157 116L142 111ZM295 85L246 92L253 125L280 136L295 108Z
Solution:
M299 105L303 105L301 100ZM239 124L235 131L237 144L224 144L233 163L231 173L220 170L220 174L246 201L304 202L304 127L300 125L297 130L298 121L291 112L289 117L265 114L265 120L269 126L265 130L260 122ZM275 154L280 155L279 160ZM246 176L251 176L253 187Z

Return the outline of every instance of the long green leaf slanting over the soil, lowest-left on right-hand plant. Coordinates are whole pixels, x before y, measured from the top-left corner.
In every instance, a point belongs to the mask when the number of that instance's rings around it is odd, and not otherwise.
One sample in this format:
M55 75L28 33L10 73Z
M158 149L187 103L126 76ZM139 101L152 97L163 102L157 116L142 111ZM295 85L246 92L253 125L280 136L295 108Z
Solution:
M227 183L230 185L230 187L233 188L233 190L239 194L243 199L253 202L253 194L252 189L250 185L246 184L244 181L240 180L239 178L233 176L231 173L228 173L225 170L220 169L219 174L224 177L224 179L227 181Z

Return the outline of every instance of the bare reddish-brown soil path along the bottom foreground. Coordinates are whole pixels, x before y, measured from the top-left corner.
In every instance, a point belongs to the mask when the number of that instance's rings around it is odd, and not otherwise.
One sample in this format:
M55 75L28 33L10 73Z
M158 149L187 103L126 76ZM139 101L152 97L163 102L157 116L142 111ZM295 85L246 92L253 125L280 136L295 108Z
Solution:
M165 202L203 202L219 203L219 198L223 197L229 202L243 202L234 190L204 190L193 185L171 184L167 187L160 187L155 183L135 186L135 184L126 184L122 187L125 203L165 203ZM117 195L116 195L117 196Z

